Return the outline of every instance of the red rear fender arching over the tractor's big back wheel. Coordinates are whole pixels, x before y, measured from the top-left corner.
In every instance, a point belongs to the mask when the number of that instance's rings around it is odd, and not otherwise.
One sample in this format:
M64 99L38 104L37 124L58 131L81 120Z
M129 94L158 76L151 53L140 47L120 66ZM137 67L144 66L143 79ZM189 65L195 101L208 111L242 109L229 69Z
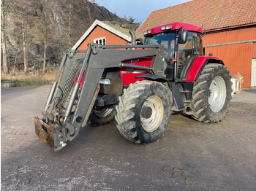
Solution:
M187 73L186 82L195 82L195 80L198 79L204 67L208 63L219 63L224 65L223 61L219 60L219 58L212 56L198 56L197 58L195 58L194 63L192 64L189 72Z

